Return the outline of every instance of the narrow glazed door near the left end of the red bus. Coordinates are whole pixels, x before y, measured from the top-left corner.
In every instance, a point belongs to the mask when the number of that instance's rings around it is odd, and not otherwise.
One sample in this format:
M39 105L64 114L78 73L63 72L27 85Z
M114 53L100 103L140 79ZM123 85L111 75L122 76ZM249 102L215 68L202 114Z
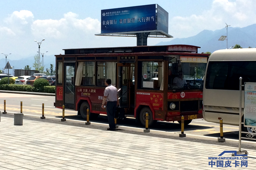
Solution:
M75 109L75 66L76 62L64 63L64 105Z

